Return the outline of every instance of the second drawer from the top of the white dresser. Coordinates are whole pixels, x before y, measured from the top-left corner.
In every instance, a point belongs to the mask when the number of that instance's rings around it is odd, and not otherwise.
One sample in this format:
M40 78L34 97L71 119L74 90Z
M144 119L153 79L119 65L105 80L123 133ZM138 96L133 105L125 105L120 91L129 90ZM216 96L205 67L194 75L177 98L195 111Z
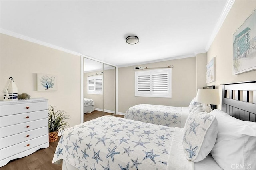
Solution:
M0 117L0 125L1 127L6 127L9 125L15 125L18 123L25 123L29 121L35 121L38 119L48 118L48 111L36 111L36 112L28 112L21 113L17 115L9 115L9 116L1 116Z

